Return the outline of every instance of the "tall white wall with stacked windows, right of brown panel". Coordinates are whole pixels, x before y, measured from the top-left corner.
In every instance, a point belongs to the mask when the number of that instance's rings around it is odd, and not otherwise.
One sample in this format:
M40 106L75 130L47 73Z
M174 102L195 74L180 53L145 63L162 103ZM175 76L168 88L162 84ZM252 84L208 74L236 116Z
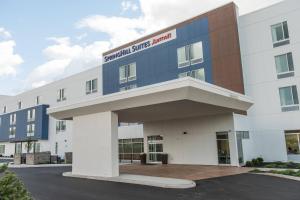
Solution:
M300 3L282 3L239 18L245 92L254 100L248 112L256 152L267 161L287 160L284 130L300 129L300 111L281 112L280 87L297 85L300 95ZM287 21L290 44L273 48L271 25ZM277 79L276 55L292 52L295 76Z

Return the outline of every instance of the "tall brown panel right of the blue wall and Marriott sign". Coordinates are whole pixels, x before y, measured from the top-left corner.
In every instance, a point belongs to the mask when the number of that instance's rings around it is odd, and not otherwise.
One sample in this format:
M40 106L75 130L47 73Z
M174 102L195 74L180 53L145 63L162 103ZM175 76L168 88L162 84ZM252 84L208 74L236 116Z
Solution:
M208 21L214 84L244 94L235 5L213 11Z

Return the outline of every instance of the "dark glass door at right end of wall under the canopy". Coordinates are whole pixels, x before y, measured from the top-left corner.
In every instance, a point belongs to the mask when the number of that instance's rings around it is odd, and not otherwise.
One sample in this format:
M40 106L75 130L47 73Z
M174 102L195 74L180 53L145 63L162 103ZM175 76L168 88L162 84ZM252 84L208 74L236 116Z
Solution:
M228 132L217 133L217 148L219 164L230 164Z

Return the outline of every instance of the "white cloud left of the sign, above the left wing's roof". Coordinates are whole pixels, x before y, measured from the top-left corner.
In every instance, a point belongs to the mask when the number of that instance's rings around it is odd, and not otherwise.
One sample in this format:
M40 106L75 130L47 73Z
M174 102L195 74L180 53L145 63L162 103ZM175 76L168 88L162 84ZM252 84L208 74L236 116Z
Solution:
M43 50L48 59L37 66L27 77L26 87L35 88L65 76L100 65L101 54L108 50L108 42L93 42L80 46L72 44L68 37L48 38L54 44Z

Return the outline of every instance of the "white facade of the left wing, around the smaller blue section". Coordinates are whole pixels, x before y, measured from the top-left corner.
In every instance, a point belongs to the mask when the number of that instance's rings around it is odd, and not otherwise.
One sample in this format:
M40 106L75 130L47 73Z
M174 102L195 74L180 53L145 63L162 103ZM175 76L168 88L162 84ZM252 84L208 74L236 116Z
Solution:
M33 107L37 105L37 97L39 98L39 105L46 104L50 107L68 104L76 102L78 100L93 99L102 94L102 80L101 67L95 67L85 72L67 77L65 79L55 81L40 88L32 89L30 91L21 93L16 96L4 96L0 98L0 113L4 111L6 107L6 113L14 112L18 110L18 102L21 102L21 109ZM86 81L97 79L97 92L86 94ZM65 101L57 101L58 91L65 89ZM59 155L64 157L65 152L72 151L72 120L66 120L66 129L63 131L56 130L57 120L49 117L49 135L48 140L40 140L40 151L51 151L53 155ZM11 156L15 152L15 144L9 142L0 142L5 144L4 156ZM26 142L23 144L22 152L26 152Z

